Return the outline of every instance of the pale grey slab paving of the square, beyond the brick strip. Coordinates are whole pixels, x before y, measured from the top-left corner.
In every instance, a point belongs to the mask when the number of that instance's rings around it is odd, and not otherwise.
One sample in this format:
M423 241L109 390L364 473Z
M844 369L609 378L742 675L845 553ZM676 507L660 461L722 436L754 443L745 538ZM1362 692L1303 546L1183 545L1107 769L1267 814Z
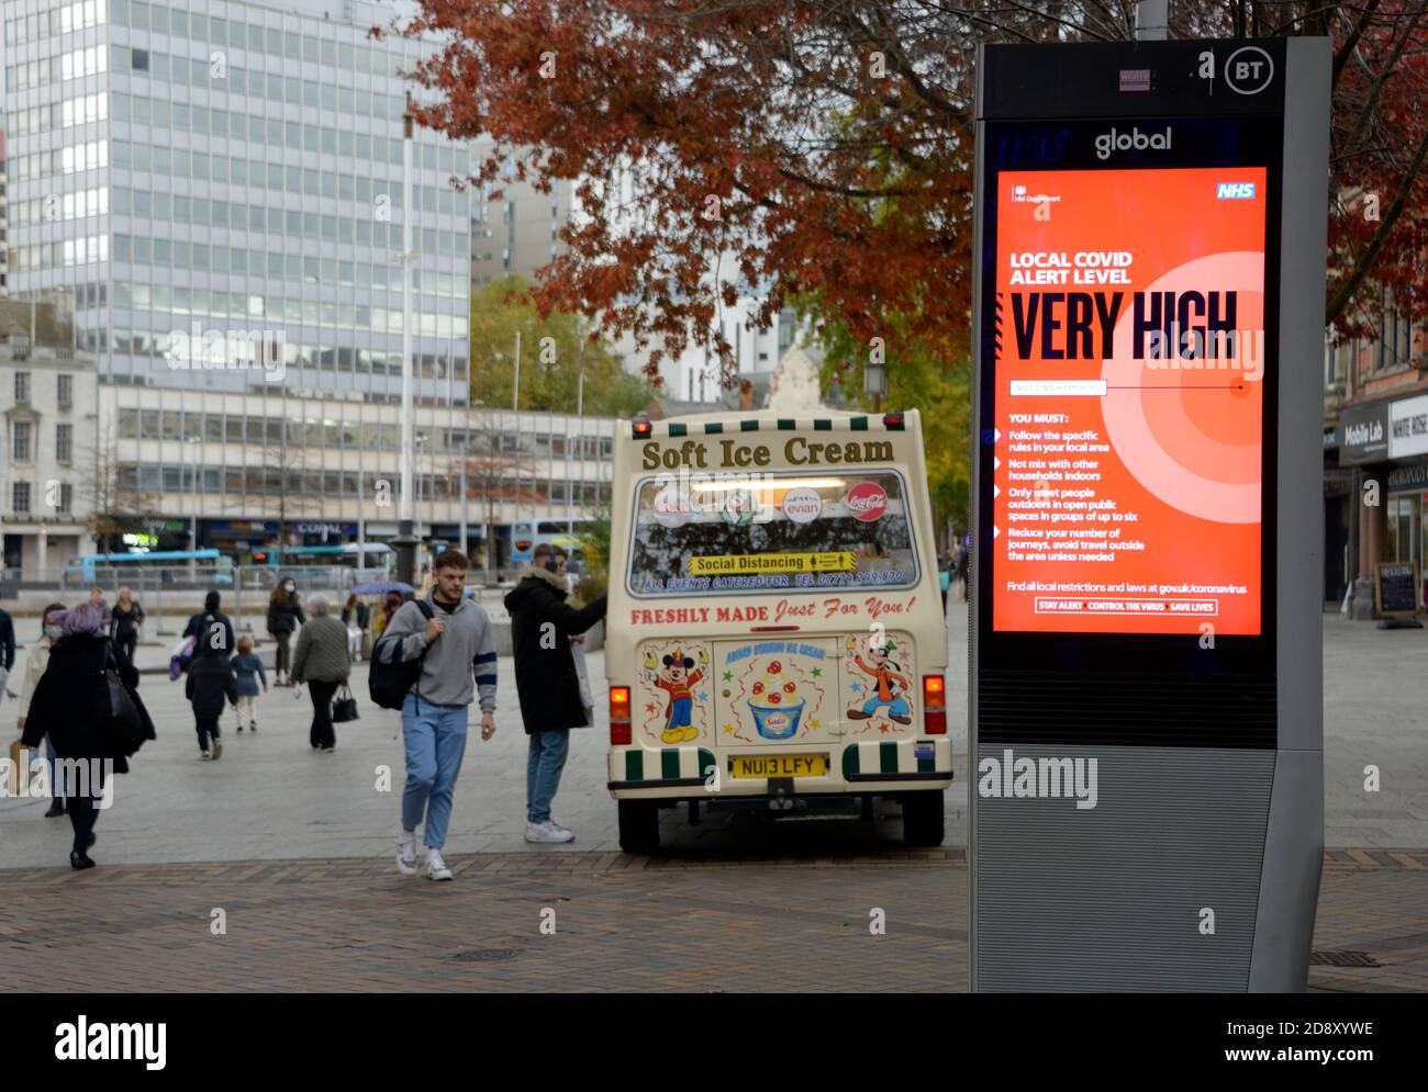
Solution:
M965 607L950 610L950 662L965 662ZM1329 846L1428 846L1428 630L1382 631L1372 624L1325 615L1325 824ZM21 654L23 655L23 654ZM149 647L140 665L157 665L167 649ZM151 662L150 662L151 661ZM568 852L614 851L615 808L605 782L607 714L604 658L588 657L597 727L571 737L557 818L575 831ZM500 662L497 735L467 747L457 788L450 849L523 852L526 734L516 705L511 661ZM17 674L21 665L17 664ZM273 689L258 699L258 735L236 735L226 721L223 761L197 761L193 717L183 684L144 675L140 687L159 739L119 778L114 807L100 817L101 864L163 861L248 861L386 856L397 825L403 781L397 714L367 699L366 668L354 677L361 719L338 725L337 752L311 754L311 705L303 691ZM965 671L948 675L957 782L945 794L947 841L967 842ZM13 724L16 704L0 704L0 724ZM961 715L958 712L961 711ZM1364 789L1364 768L1379 768L1381 789ZM391 789L378 788L380 768ZM44 821L44 801L0 799L0 868L63 862L63 821ZM885 818L884 818L885 817ZM674 848L715 845L755 851L768 838L797 845L808 825L827 828L845 851L888 851L901 845L894 805L874 822L857 818L767 814L705 814L700 826L665 812L664 841Z

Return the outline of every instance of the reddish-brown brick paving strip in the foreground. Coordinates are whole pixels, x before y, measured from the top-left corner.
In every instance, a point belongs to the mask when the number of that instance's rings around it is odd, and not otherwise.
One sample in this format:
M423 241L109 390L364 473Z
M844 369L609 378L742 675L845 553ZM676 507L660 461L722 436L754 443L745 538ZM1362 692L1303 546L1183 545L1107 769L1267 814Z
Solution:
M957 848L453 855L0 872L19 991L960 991ZM887 934L870 935L881 908ZM214 935L213 911L226 915ZM554 935L541 934L543 911ZM545 916L550 916L548 914ZM1428 989L1428 849L1325 854L1314 991ZM1358 956L1347 956L1358 958Z

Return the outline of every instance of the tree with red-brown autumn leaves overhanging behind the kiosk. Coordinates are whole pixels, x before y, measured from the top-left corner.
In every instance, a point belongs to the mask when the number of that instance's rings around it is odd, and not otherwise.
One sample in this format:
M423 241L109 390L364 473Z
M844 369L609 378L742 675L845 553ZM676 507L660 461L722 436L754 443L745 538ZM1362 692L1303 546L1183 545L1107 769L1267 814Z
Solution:
M1334 39L1329 315L1422 287L1424 4L1172 0L1172 37ZM1130 39L1134 0L420 0L444 40L424 124L493 138L480 180L575 183L585 216L536 293L644 350L713 344L815 294L851 341L965 365L975 47ZM1377 218L1367 218L1372 194ZM897 315L897 321L891 321ZM661 348L648 354L653 374Z

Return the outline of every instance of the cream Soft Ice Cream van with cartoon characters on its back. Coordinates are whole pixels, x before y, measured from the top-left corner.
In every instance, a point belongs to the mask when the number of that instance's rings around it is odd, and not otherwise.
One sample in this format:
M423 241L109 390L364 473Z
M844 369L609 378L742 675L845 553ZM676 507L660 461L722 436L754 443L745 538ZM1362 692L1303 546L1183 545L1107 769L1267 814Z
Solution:
M947 631L917 411L635 418L611 498L620 845L681 801L901 802L942 841Z

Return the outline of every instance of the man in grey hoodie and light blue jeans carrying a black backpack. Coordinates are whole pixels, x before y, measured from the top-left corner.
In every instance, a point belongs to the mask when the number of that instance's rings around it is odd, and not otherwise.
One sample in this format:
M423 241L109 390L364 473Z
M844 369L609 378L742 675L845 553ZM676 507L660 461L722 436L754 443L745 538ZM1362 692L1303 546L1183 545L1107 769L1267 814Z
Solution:
M426 604L431 618L413 601L398 610L373 649L373 659L398 664L423 654L421 674L401 707L401 735L407 752L407 785L401 794L401 836L397 869L417 871L417 825L426 818L427 879L450 879L441 859L451 797L466 754L467 714L481 702L481 738L496 735L496 635L480 604L467 600L467 560L454 550L433 565L436 582Z

